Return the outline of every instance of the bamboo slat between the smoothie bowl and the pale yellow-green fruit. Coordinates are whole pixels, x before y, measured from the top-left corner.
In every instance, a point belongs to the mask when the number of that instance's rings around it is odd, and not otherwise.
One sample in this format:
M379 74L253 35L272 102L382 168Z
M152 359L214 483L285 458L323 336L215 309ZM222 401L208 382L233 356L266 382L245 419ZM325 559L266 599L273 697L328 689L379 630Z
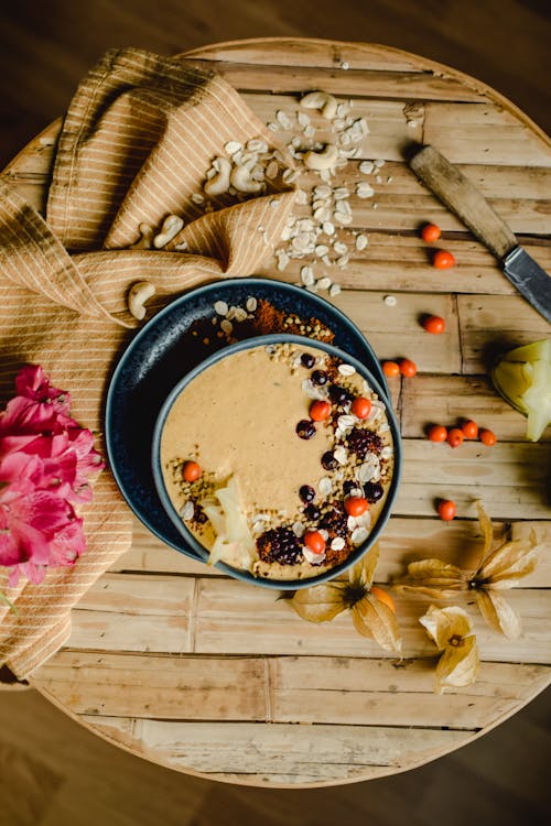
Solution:
M474 419L499 441L523 442L526 417L497 394L488 376L419 376L402 387L402 435L426 437L431 424L456 426ZM551 426L541 442L551 441Z

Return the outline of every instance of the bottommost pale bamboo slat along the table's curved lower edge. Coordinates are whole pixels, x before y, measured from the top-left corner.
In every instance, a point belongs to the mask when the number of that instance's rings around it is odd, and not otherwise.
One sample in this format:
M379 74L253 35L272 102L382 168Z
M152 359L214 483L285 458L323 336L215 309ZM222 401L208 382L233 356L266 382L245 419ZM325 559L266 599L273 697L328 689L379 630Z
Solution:
M115 727L112 719L106 724ZM143 719L136 721L133 733L145 756L162 753L173 768L270 785L278 779L301 784L377 776L381 768L396 771L423 762L468 738L465 731L440 729L250 722L220 729L216 722Z

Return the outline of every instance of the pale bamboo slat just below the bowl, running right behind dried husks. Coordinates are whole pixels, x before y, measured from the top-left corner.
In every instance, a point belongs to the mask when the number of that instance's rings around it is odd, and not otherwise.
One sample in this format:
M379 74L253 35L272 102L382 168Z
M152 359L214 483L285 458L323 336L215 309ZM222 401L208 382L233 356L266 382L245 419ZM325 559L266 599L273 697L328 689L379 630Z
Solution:
M547 663L551 594L516 588L507 593L507 599L522 619L523 637L519 640L506 640L484 623L472 602L458 600L473 618L482 659ZM397 595L396 604L407 656L434 656L434 646L419 623L430 600ZM347 615L327 623L306 622L284 601L277 601L276 595L223 579L202 583L195 639L195 653L205 654L317 654L396 660L377 643L357 634Z

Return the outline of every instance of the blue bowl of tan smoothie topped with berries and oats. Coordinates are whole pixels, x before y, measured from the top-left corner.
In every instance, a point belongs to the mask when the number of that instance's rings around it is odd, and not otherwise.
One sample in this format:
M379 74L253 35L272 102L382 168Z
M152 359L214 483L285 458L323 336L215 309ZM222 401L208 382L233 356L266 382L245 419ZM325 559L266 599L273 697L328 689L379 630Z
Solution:
M296 589L366 553L398 490L383 391L356 359L290 335L215 352L165 400L153 478L185 542L225 573Z

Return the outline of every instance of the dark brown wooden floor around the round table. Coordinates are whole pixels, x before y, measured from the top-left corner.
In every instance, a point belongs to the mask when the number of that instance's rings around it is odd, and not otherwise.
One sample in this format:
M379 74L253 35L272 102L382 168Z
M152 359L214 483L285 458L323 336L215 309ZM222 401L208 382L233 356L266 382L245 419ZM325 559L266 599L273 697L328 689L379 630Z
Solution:
M0 169L111 46L173 54L267 35L363 40L485 80L551 127L547 0L0 0ZM196 780L104 742L34 692L0 694L0 826L549 823L551 691L422 769L321 791Z

